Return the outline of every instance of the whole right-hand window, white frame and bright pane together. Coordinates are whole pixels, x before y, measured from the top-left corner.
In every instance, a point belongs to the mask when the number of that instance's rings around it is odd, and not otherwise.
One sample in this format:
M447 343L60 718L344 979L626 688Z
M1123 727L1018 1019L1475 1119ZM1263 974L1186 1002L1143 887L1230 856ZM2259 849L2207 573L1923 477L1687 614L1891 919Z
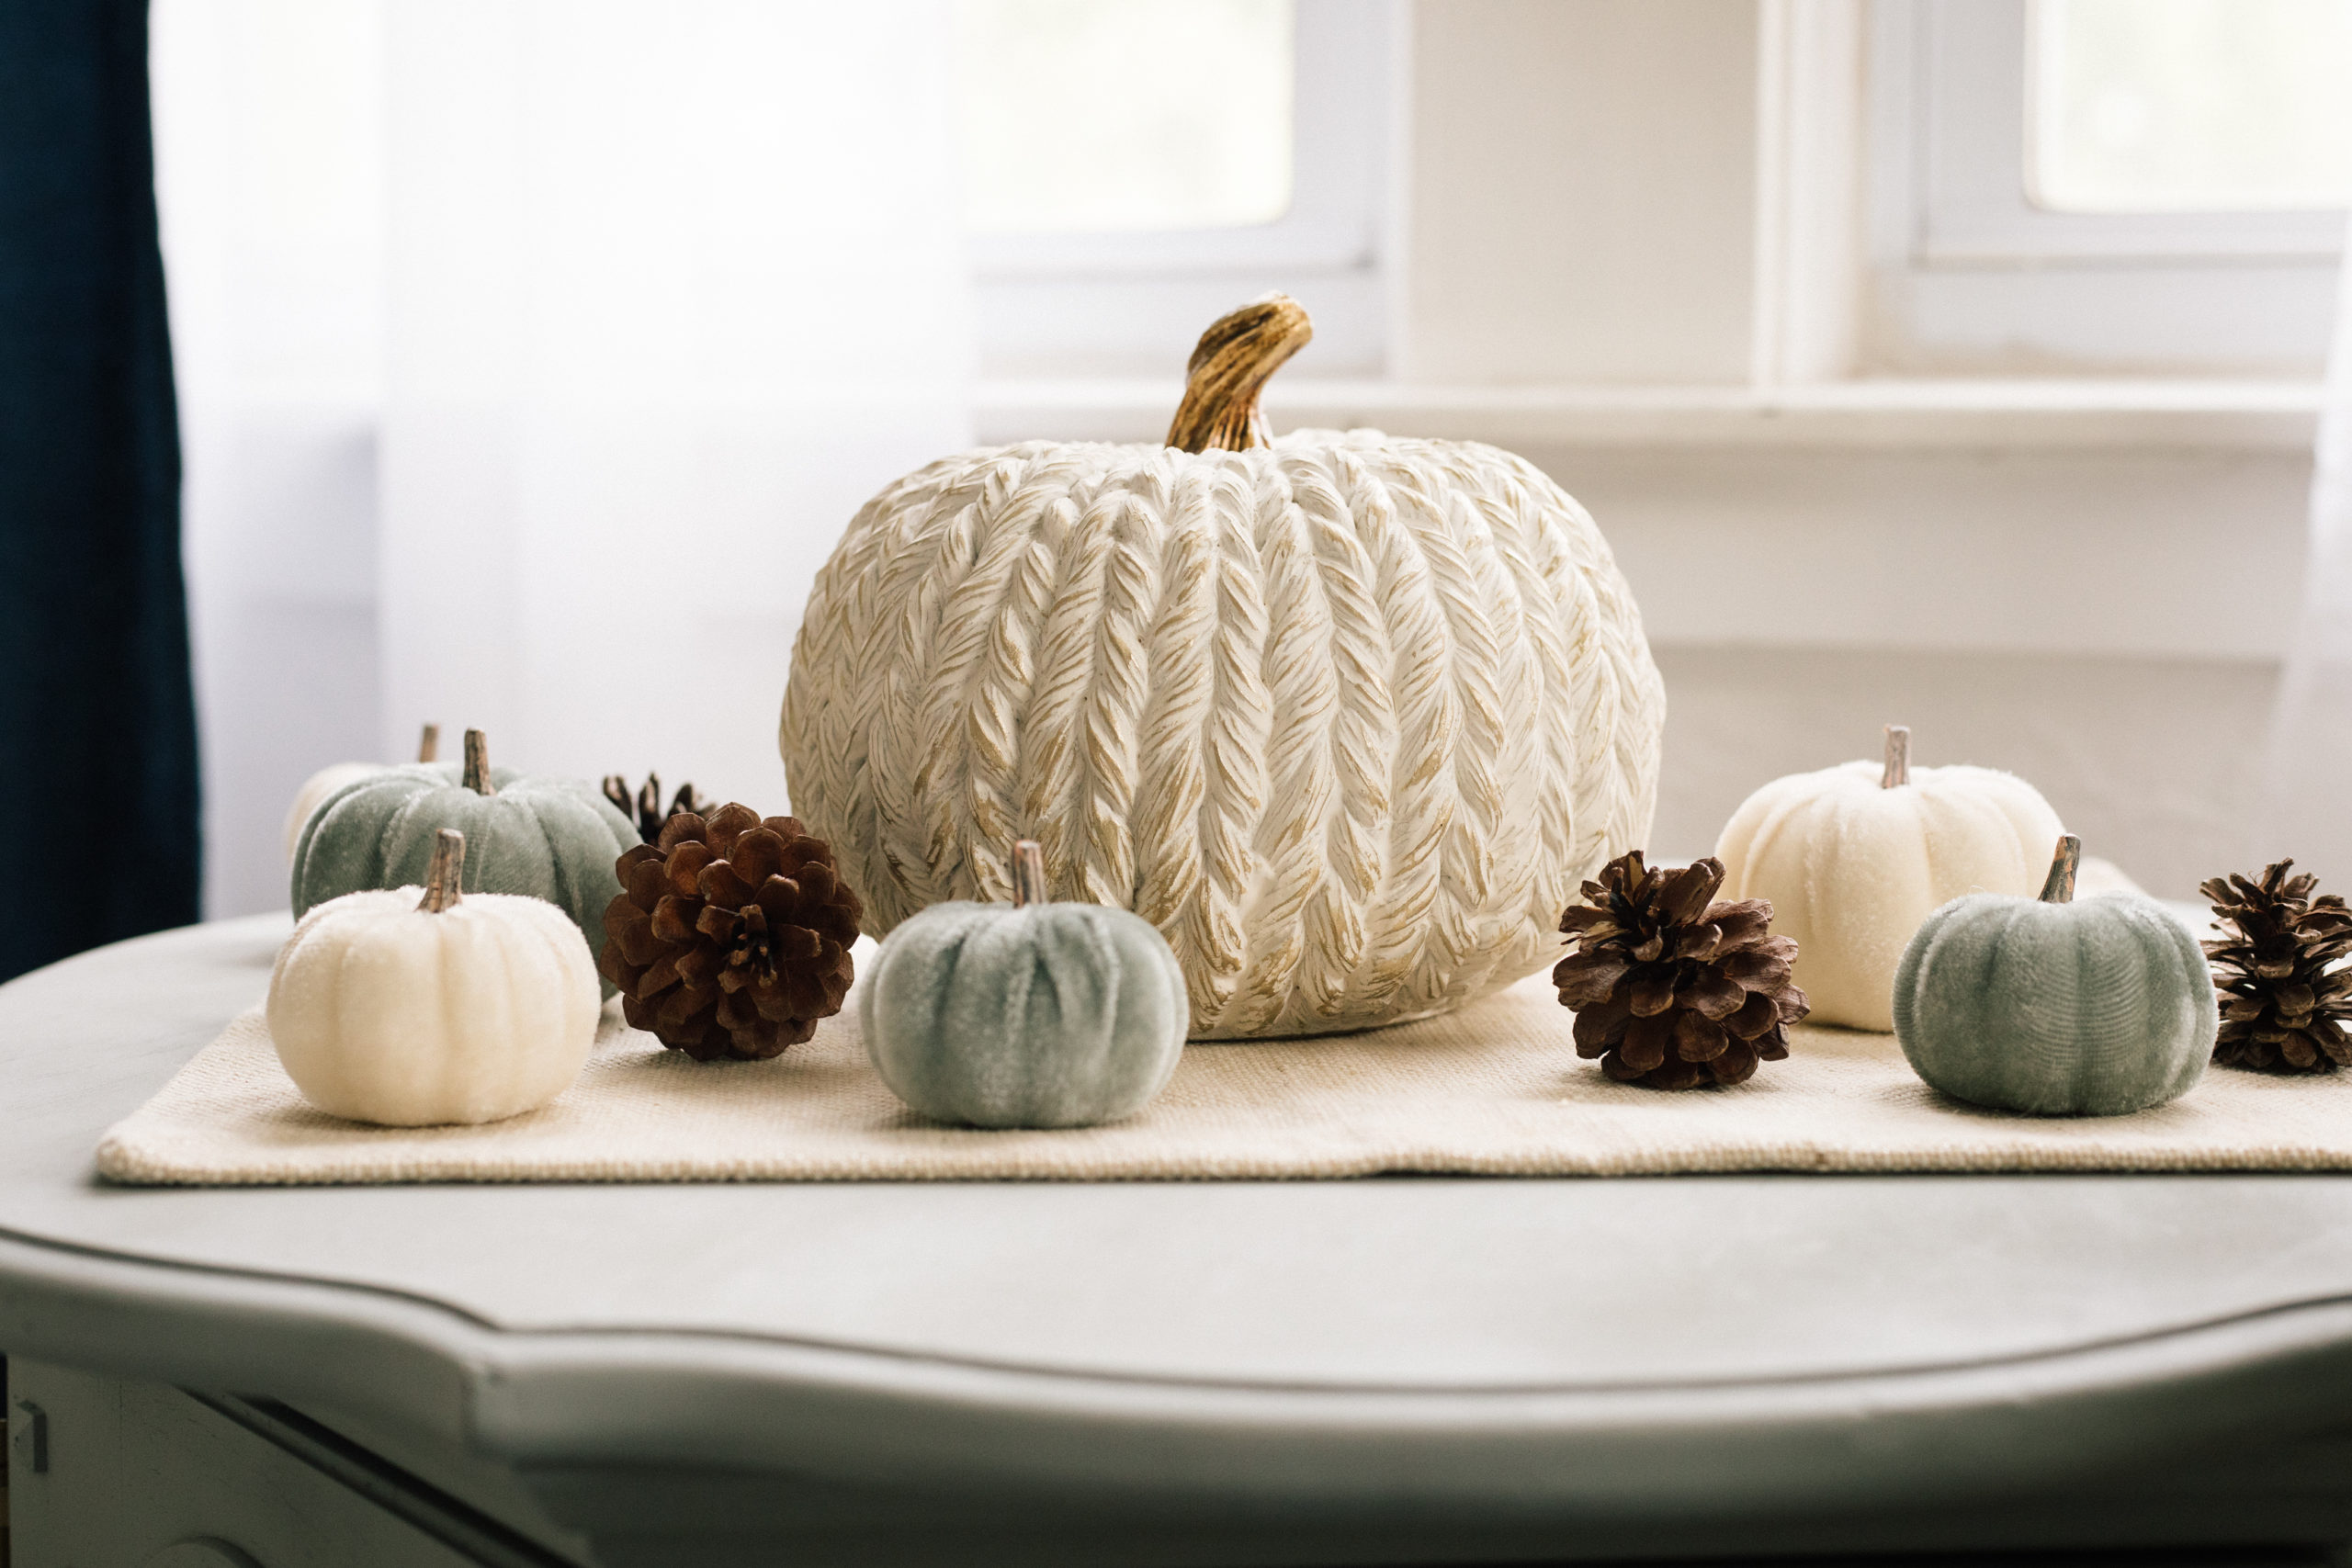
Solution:
M2307 150L2298 134L2352 94L2298 82L2340 47L2328 40L2347 12L2347 0L1879 0L1867 360L2317 371L2345 219L2312 202L2343 200L2324 186L2343 146ZM2263 28L2279 42L2260 42ZM2216 47L2220 35L2232 45ZM2267 122L2246 113L2253 99L2270 99ZM2161 113L2173 118L2159 134ZM2237 209L2211 205L2230 193Z

